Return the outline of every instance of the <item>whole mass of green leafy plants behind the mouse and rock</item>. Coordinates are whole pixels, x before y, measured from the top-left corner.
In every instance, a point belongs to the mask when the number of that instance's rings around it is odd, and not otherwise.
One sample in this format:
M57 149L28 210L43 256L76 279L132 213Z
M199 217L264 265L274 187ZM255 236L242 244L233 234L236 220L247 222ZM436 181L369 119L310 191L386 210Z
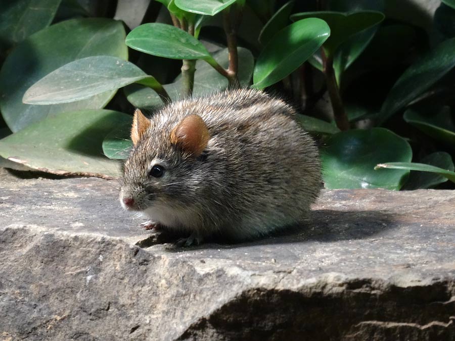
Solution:
M384 0L116 3L0 5L0 156L115 177L134 107L252 86L298 110L327 188L454 188L452 0L430 28Z

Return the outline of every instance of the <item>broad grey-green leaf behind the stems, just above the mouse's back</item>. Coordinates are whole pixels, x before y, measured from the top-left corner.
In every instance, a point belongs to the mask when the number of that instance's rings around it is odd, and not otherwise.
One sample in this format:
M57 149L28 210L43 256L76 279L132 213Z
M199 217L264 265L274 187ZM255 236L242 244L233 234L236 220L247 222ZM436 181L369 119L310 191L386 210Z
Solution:
M243 47L238 48L239 56L239 81L241 86L248 86L253 73L254 59L249 50ZM224 48L216 52L213 58L219 65L227 68L229 65L228 49ZM164 85L172 100L178 100L182 94L182 82L178 76L174 83ZM220 75L209 64L202 60L196 61L196 72L194 74L193 96L200 97L228 87L228 80ZM135 107L145 109L156 109L163 106L158 94L152 89L129 85L125 88L128 101Z

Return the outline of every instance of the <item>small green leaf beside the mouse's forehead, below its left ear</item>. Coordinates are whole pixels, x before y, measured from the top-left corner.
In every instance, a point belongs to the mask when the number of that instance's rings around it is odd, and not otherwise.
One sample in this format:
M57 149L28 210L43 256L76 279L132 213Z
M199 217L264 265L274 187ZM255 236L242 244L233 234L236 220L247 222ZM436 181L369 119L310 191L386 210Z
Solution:
M109 159L126 160L132 148L131 120L112 130L103 140L103 153Z

